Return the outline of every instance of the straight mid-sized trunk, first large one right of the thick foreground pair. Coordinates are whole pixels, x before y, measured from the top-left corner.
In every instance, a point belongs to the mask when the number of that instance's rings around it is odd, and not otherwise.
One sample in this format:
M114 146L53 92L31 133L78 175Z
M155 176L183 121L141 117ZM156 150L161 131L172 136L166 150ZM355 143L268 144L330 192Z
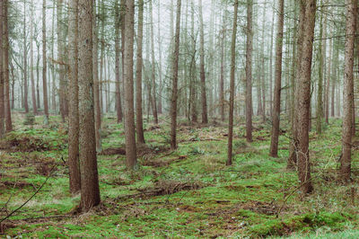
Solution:
M125 17L125 137L126 164L130 170L136 169L136 138L134 112L134 34L135 34L135 2L126 0Z

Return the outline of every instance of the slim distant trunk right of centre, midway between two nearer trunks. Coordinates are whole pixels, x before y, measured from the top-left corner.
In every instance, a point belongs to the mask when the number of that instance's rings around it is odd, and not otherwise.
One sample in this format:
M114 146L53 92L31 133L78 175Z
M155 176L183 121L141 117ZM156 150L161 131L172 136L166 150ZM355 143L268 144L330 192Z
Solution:
M200 44L199 44L199 66L201 78L201 98L202 98L202 123L208 123L207 114L207 98L206 98L206 72L205 72L205 31L203 26L202 0L198 0L199 4L199 28L200 28Z

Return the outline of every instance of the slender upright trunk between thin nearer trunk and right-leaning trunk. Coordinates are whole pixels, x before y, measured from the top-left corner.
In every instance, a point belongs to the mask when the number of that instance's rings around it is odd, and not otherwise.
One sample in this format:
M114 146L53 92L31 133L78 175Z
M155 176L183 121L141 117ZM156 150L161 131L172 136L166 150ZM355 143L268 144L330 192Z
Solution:
M246 49L246 138L252 142L252 50L253 50L253 0L247 0Z

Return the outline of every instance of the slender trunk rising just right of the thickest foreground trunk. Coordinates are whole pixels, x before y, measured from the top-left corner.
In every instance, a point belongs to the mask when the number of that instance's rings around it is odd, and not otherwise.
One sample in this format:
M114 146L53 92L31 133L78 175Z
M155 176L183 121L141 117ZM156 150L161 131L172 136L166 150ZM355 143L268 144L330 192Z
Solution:
M96 137L96 151L99 153L102 151L101 146L101 101L100 101L100 79L99 79L99 58L98 58L98 49L99 49L99 29L96 19L96 1L93 1L93 20L92 20L92 60L93 60L93 97L94 97L94 107L95 107L95 137Z

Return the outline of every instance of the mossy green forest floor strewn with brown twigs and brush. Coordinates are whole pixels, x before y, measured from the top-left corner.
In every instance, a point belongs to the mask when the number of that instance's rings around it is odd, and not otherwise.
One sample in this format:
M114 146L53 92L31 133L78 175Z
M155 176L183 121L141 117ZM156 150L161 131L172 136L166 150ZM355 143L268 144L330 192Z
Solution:
M256 121L249 144L244 125L237 124L229 167L225 125L190 127L180 120L179 149L171 151L168 124L145 123L147 146L138 149L139 168L130 173L123 125L106 117L98 156L101 206L76 215L80 195L68 192L66 125L59 117L51 117L48 127L41 116L33 126L23 125L24 114L13 118L15 131L0 142L0 220L39 192L1 224L0 237L359 236L359 141L353 183L342 186L336 181L340 120L330 120L321 136L311 132L315 191L301 199L297 174L285 168L285 131L280 157L272 158L269 125Z

